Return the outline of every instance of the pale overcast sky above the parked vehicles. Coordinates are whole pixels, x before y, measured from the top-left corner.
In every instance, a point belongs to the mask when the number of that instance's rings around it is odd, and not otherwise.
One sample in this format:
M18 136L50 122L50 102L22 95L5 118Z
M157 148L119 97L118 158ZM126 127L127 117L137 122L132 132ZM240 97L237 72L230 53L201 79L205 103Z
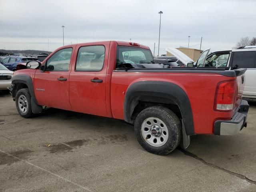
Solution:
M256 36L256 0L0 0L0 49L54 51L64 44L123 40L158 47L230 49ZM157 48L156 48L157 52Z

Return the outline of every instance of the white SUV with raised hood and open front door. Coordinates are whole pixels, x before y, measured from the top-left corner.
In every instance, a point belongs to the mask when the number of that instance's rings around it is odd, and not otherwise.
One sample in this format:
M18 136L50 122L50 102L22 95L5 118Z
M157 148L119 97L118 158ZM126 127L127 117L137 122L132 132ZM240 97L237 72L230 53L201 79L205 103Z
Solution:
M192 62L197 67L234 67L237 65L238 68L247 68L243 98L256 100L256 46L244 46L210 54L208 54L210 49L207 49L202 52L196 62L175 48L166 48L166 51L176 56L184 64Z

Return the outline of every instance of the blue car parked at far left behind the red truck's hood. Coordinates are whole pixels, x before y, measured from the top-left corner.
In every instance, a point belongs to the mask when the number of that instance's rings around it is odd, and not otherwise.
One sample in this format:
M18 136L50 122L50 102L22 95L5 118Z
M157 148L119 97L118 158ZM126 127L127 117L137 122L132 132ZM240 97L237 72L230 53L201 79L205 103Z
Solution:
M6 66L11 71L16 71L17 65L28 62L28 61L36 61L37 58L32 57L22 57L22 56L7 56L2 61L1 64Z

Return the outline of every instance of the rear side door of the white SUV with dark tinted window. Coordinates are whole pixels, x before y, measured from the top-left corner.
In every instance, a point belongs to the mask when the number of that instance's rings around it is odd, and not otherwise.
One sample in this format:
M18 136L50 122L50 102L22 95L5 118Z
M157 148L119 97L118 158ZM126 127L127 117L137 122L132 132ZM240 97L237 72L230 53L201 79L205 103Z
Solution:
M256 51L234 51L231 60L233 67L247 68L243 97L256 98Z

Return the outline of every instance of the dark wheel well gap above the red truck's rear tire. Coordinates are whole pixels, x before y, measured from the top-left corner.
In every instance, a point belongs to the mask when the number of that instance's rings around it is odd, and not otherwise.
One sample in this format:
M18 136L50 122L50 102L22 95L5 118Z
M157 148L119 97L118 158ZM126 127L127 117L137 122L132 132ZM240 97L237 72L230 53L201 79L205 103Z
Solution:
M168 109L170 109L172 112L174 112L179 119L182 119L182 115L180 112L180 108L178 107L178 105L172 103L172 104L166 104L166 103L158 103L158 102L147 102L147 101L138 101L138 104L135 106L133 112L132 112L132 116L131 116L131 122L132 124L134 123L136 117L138 116L138 114L148 108L148 107L152 107L152 106L163 106L166 107Z

